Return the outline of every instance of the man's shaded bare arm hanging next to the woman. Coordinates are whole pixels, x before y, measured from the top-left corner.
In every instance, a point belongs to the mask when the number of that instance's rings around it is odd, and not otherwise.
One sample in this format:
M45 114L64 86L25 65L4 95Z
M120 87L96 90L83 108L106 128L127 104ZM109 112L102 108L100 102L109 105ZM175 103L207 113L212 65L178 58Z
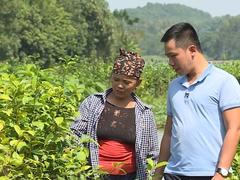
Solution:
M170 157L170 143L172 131L172 117L167 117L167 122L164 128L164 133L160 146L159 162L168 161ZM160 179L163 176L165 167L160 167L155 171L155 179Z

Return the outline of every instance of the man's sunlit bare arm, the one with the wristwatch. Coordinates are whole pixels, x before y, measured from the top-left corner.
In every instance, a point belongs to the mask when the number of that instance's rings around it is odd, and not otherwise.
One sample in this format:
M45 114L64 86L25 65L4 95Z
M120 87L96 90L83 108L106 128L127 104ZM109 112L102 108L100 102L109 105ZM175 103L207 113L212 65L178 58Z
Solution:
M224 138L217 168L229 169L236 154L240 139L240 107L225 110L223 112L223 119L226 127L226 136ZM213 179L220 180L224 178L219 173L216 173Z

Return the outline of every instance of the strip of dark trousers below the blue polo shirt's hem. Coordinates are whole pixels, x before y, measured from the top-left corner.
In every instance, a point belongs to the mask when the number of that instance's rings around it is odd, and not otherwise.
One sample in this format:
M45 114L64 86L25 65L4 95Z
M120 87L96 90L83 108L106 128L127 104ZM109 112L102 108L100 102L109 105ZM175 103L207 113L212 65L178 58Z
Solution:
M180 176L164 173L164 180L211 180L212 176Z

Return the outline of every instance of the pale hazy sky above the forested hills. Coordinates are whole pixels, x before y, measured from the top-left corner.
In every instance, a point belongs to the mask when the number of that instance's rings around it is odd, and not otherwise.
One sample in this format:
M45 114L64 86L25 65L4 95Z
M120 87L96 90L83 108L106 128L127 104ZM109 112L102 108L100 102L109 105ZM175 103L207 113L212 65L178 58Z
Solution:
M178 3L210 13L212 16L240 15L240 0L107 0L109 8L115 9L143 7L148 2Z

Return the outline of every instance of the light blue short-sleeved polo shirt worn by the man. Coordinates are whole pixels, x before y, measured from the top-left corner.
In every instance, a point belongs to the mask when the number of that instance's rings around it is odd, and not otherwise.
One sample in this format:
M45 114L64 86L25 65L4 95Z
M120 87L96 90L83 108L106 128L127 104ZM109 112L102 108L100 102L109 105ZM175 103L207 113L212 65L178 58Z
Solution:
M222 112L240 107L240 86L231 74L209 64L189 85L186 76L170 83L170 159L165 173L213 176L226 134Z

